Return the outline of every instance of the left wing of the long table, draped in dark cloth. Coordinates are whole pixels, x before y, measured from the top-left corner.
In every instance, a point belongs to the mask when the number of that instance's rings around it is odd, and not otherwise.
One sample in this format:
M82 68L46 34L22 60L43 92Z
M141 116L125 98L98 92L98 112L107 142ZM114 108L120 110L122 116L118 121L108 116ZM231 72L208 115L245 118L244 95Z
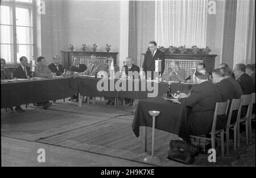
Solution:
M1 108L73 96L78 82L73 77L1 82Z

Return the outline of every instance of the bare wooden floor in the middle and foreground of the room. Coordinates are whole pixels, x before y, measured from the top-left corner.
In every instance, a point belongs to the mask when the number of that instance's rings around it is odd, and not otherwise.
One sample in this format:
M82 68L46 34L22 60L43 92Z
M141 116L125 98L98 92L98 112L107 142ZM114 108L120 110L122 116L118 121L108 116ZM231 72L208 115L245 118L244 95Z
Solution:
M57 101L48 110L30 106L22 114L1 110L2 165L151 165L143 162L151 152L151 129L148 152L141 152L141 139L136 138L131 128L133 110L128 106L104 105L101 101L82 107L75 102ZM246 146L244 141L242 135L242 146L237 151L232 149L224 159L218 156L217 165L233 165L247 149L255 147L255 142ZM155 155L162 162L152 165L185 166L166 159L169 142L170 133L156 130ZM46 163L37 162L38 148L46 148L46 154L51 155ZM207 155L199 155L193 165L212 165L207 160Z

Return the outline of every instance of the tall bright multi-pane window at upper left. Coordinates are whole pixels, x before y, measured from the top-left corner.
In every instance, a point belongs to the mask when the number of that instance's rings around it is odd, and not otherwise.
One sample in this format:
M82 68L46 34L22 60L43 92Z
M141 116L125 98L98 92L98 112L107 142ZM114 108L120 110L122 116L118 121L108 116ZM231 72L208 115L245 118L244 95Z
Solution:
M34 55L33 0L3 0L0 5L0 52L7 64Z

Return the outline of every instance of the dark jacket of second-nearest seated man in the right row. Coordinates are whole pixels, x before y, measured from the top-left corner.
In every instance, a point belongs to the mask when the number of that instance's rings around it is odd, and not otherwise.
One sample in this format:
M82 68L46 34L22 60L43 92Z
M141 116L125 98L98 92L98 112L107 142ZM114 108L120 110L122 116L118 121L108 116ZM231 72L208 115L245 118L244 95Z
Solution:
M222 102L229 100L231 103L233 98L240 98L237 96L237 92L234 89L232 82L230 82L228 79L221 80L214 85L217 86L218 92L220 92Z

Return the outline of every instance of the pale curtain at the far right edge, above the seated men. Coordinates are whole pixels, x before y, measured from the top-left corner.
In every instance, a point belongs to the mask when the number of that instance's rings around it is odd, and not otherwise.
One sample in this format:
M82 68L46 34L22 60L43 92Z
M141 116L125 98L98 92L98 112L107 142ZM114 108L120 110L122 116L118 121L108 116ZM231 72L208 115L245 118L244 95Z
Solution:
M234 40L234 62L255 63L255 1L238 0L236 34ZM253 55L254 52L254 55ZM251 57L254 56L252 59Z

